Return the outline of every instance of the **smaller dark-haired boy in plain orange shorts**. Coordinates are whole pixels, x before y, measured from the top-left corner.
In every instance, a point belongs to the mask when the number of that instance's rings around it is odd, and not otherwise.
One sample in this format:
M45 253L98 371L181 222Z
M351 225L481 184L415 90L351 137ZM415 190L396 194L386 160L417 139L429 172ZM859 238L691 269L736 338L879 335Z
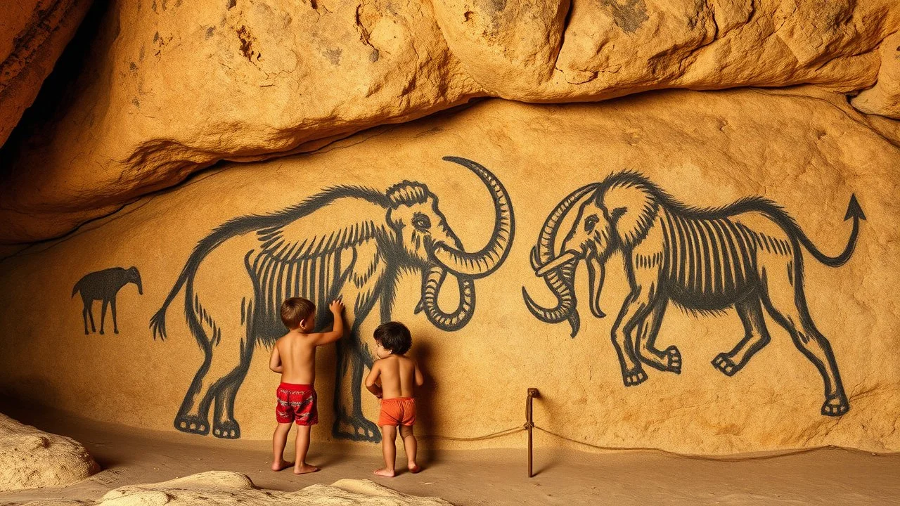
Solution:
M375 329L375 355L379 360L375 360L372 371L365 378L365 388L382 400L378 426L382 428L384 467L375 471L379 476L394 475L394 457L397 454L394 440L398 425L410 473L421 471L416 464L416 437L412 435L412 426L416 423L413 384L422 386L425 380L419 365L403 355L411 347L410 330L402 323L388 321Z

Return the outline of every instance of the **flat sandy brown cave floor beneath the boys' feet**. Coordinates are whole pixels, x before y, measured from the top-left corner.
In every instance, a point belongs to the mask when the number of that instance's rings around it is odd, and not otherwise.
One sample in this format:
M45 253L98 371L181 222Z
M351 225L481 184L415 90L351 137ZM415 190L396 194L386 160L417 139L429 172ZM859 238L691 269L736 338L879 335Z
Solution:
M9 415L76 438L103 471L66 488L0 492L0 504L37 499L93 500L126 484L153 483L210 470L247 474L258 487L295 491L312 483L369 478L395 490L437 496L455 504L900 504L900 454L875 455L821 448L782 456L728 460L673 456L654 451L585 453L546 447L536 433L536 476L526 476L522 449L428 451L425 471L396 478L372 474L379 448L313 443L316 474L294 476L268 469L269 442L228 443L179 432L148 431L23 411L0 405ZM525 438L518 433L511 438ZM293 444L293 438L290 441ZM398 463L402 457L398 458Z

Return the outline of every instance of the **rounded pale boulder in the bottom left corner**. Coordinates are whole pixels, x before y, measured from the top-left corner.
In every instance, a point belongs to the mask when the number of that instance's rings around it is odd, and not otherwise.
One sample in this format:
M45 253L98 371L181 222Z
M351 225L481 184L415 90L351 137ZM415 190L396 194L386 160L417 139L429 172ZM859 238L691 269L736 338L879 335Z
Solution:
M0 490L67 486L99 470L76 440L0 414Z

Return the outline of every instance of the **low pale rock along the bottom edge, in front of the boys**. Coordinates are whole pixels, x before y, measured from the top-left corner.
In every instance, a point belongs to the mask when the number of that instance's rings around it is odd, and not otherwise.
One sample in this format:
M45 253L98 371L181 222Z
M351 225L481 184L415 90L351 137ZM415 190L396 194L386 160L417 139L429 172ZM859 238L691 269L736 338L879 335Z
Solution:
M144 506L194 504L229 506L449 506L436 497L418 497L396 492L369 480L338 480L331 485L310 485L297 492L258 489L245 474L209 471L162 483L128 485L107 492L96 506Z

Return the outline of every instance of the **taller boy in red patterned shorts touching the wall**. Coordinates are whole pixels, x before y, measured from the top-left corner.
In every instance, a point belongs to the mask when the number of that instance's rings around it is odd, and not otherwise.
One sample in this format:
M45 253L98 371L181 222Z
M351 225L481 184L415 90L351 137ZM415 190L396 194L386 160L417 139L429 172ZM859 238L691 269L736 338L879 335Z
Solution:
M319 468L306 463L310 449L310 429L319 423L316 408L316 347L337 341L344 335L344 303L340 300L329 305L334 315L334 327L329 332L311 333L316 325L316 305L301 297L291 297L282 303L281 317L288 333L275 342L269 368L281 373L282 383L275 392L275 435L272 436L272 470L281 471L293 465L293 474L315 473ZM297 423L297 464L284 461L284 445L291 430L291 422Z

